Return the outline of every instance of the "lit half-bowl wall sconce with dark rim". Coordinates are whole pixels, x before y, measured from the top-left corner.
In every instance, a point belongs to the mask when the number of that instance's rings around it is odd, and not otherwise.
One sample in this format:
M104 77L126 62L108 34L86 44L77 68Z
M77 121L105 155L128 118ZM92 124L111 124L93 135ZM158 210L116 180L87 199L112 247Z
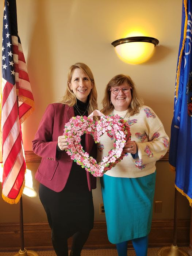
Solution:
M154 37L126 37L111 44L119 58L128 64L140 64L147 61L159 41Z

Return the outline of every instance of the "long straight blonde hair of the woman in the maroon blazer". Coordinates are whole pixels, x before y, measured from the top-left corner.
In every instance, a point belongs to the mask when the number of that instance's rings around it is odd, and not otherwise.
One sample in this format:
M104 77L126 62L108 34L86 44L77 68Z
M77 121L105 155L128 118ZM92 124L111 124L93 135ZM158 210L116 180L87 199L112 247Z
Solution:
M71 83L73 72L76 68L80 68L91 80L91 83L93 85L93 88L91 89L91 92L89 93L89 106L88 106L88 115L91 114L95 109L97 109L97 90L96 85L93 77L93 73L91 72L91 69L84 63L77 62L76 64L70 66L68 71L68 81L67 81L67 89L65 91L65 95L61 98L61 103L67 104L70 107L73 107L75 104L77 104L77 98L73 91L70 89L69 84Z

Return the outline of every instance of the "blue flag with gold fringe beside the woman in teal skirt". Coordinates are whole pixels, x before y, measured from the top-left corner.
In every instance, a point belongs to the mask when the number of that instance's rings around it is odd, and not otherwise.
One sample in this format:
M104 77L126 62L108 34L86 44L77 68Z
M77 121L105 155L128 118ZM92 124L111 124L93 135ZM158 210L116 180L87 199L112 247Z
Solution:
M183 0L169 163L175 187L192 206L192 2Z

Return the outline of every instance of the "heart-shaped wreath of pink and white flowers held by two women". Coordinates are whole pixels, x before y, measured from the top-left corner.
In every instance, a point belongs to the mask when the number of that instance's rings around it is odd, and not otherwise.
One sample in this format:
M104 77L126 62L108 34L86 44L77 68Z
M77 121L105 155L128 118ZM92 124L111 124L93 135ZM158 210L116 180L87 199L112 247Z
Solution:
M95 143L98 143L100 136L105 132L109 137L114 137L114 147L108 152L108 156L104 156L102 161L97 164L97 161L82 149L81 135L84 133L91 134ZM72 117L65 124L63 135L68 142L66 153L74 162L91 172L95 177L103 176L106 171L123 159L125 156L123 147L131 137L128 122L118 115L101 116L99 121L94 121L87 116Z

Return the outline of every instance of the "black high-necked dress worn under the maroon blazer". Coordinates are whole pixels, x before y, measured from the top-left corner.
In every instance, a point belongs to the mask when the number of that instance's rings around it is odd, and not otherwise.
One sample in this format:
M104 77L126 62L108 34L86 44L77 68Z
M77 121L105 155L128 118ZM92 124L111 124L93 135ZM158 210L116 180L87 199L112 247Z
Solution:
M77 106L74 106L75 116L82 114L87 116L87 107L88 103L77 100ZM85 134L81 136L81 145L84 148ZM93 146L96 146L96 144L93 144ZM66 242L64 240L67 240L74 233L89 234L93 228L92 191L89 191L88 188L85 169L75 162L72 164L65 188L61 192L55 192L40 184L39 198L45 208L52 230L55 252L64 248Z

